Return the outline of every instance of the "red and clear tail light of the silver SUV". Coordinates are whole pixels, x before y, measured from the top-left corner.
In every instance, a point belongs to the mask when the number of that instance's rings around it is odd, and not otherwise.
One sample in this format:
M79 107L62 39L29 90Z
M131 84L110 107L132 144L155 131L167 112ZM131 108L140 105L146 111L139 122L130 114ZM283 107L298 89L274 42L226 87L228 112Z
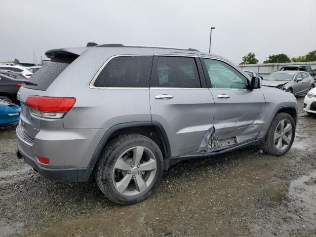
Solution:
M43 118L63 118L73 108L74 97L46 97L30 95L26 105L31 108L35 116Z

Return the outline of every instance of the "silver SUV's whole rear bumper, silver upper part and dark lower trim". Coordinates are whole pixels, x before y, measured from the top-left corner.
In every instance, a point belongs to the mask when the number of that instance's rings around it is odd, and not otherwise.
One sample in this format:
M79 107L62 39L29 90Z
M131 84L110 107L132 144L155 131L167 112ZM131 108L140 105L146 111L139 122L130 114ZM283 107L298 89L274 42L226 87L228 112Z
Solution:
M19 124L17 147L26 163L44 178L81 182L87 181L93 166L89 162L105 130L103 129L40 129L34 139L27 137ZM40 163L36 156L49 158Z

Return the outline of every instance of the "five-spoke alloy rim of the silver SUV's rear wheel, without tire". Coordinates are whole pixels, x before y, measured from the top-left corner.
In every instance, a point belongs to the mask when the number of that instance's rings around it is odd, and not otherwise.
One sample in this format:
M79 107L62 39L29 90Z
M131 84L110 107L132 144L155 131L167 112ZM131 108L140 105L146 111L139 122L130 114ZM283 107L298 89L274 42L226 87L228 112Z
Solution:
M113 183L124 196L143 193L154 181L157 162L146 147L128 149L118 158L113 169Z

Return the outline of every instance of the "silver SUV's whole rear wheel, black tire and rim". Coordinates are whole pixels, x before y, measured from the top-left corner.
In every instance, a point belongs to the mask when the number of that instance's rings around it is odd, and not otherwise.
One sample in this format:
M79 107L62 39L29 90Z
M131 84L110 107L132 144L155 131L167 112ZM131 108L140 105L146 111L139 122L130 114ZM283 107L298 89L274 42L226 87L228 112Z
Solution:
M153 140L140 134L125 134L104 147L95 180L106 197L128 205L151 196L162 170L163 157Z

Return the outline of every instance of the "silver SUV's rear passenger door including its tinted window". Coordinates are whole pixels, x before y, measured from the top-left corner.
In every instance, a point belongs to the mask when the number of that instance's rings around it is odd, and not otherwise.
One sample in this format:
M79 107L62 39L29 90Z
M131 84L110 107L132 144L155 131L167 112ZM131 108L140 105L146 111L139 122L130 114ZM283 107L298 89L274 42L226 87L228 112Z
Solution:
M152 120L166 131L171 156L200 150L213 127L214 100L197 54L155 54L150 105Z

